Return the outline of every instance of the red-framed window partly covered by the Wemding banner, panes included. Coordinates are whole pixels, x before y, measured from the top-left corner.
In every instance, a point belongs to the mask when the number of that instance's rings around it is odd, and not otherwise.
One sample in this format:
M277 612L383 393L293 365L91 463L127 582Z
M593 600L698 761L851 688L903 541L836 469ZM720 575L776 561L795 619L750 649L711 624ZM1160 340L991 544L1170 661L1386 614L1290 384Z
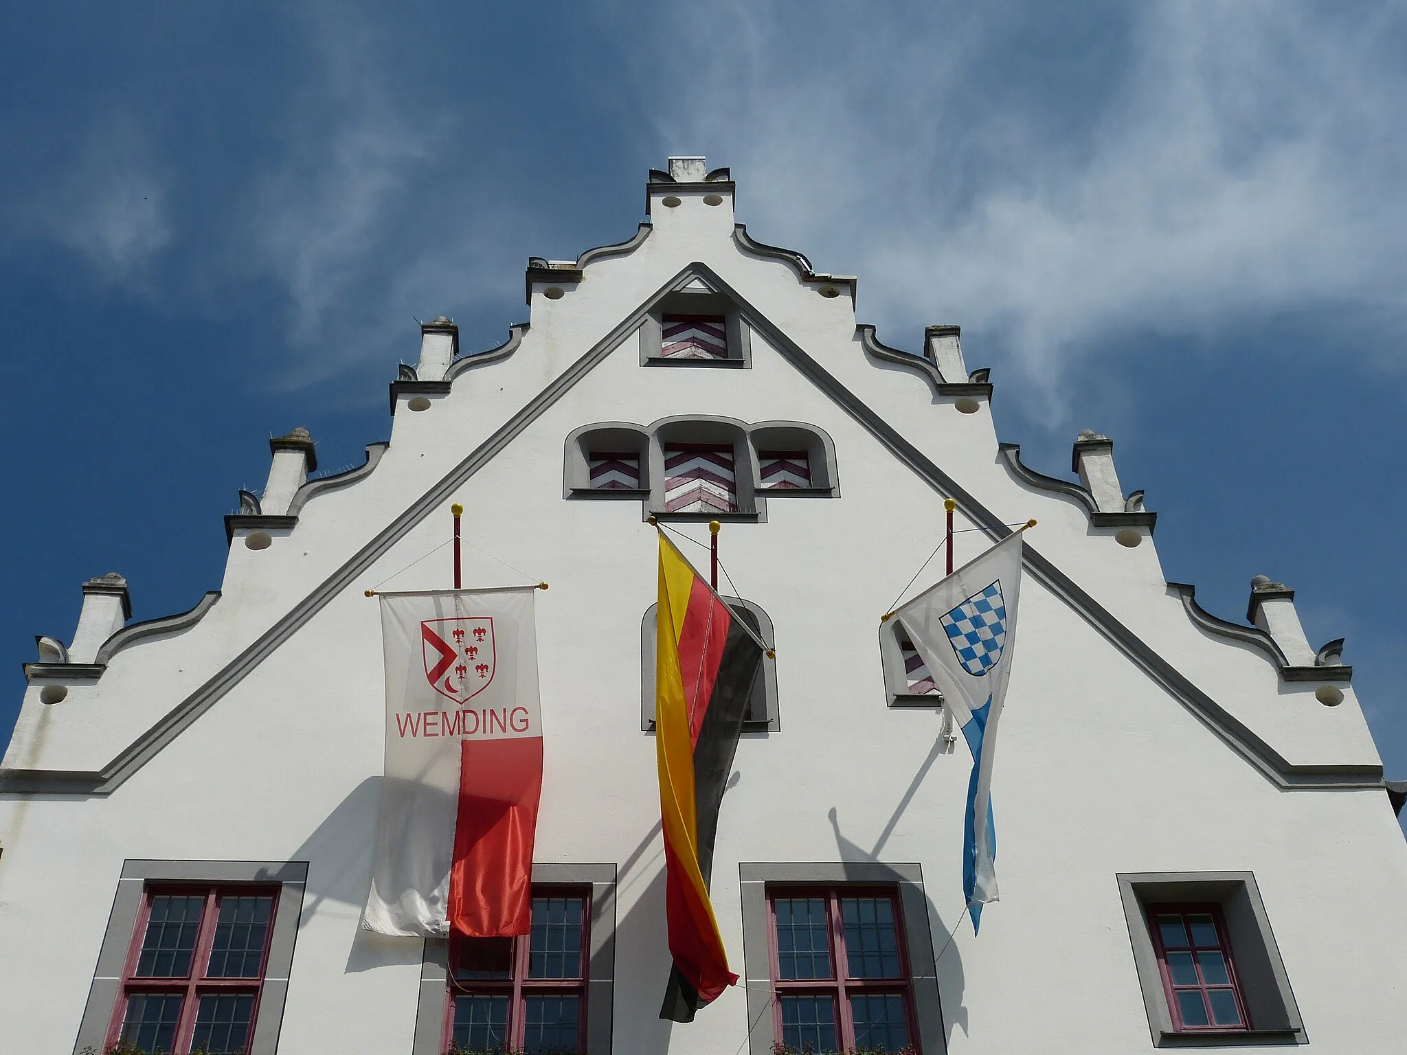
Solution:
M533 892L521 938L450 937L449 1052L587 1049L588 890Z

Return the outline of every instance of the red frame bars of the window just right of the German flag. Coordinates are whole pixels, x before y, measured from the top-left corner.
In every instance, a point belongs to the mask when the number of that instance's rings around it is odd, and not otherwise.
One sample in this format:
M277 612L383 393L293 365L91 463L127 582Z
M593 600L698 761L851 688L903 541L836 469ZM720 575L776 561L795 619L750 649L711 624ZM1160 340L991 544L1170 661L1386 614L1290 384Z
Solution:
M777 899L823 897L826 902L826 934L830 951L829 979L782 979L777 948ZM846 924L840 912L843 897L884 897L893 906L895 944L899 951L896 978L850 978L850 958L846 952ZM903 996L905 1030L909 1034L903 1051L919 1051L919 1023L913 1011L913 975L909 969L909 950L905 942L903 906L892 886L768 886L767 888L767 952L772 975L772 1040L782 1044L784 996L832 996L836 1004L839 1048L854 1051L855 1024L850 1013L850 997L860 995L899 993ZM899 1055L895 1052L895 1055Z

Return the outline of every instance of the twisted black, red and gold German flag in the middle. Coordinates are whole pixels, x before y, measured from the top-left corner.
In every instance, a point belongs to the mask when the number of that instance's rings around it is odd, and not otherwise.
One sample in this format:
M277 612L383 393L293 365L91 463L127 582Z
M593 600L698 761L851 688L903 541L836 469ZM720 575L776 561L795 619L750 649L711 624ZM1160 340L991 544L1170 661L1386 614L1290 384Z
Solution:
M660 532L654 748L674 969L661 1018L694 1020L737 975L708 896L713 834L764 646Z

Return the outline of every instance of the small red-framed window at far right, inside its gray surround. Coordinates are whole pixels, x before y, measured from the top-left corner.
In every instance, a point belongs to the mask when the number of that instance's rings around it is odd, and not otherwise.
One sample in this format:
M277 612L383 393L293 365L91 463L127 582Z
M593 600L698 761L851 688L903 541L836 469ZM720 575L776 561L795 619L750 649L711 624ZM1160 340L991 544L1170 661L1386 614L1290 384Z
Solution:
M1152 904L1148 930L1178 1032L1249 1028L1220 906Z

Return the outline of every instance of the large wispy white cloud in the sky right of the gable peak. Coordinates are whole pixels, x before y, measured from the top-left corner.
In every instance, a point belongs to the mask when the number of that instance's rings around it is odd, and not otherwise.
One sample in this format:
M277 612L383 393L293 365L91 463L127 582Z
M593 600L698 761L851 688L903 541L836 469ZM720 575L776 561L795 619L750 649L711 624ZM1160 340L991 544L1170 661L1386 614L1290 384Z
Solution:
M1010 6L808 13L664 27L712 103L661 138L730 162L763 236L861 274L868 318L976 331L1051 423L1068 369L1131 332L1348 305L1407 336L1400 15L1142 4L1106 69L1023 84Z

